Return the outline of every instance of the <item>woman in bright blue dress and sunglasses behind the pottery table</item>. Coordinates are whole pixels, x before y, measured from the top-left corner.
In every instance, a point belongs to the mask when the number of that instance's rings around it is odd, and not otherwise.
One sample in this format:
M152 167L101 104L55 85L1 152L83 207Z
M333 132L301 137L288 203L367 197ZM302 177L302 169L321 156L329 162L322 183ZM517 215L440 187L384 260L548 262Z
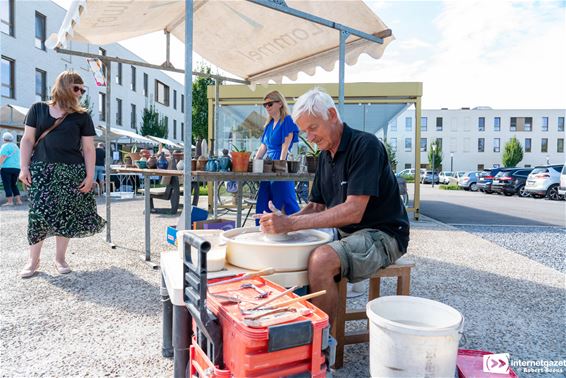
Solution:
M285 97L278 91L269 92L263 98L263 106L269 117L255 158L261 159L267 154L271 160L287 160L293 144L299 141L299 128L289 115ZM269 201L287 215L299 211L293 181L262 181L259 184L256 213L270 213Z

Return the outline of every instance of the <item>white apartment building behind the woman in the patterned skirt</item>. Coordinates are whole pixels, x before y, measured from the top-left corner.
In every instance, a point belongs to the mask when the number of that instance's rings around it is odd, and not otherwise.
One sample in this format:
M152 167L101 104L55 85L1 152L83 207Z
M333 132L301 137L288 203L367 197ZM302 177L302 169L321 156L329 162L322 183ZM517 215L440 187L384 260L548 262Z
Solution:
M73 70L85 82L84 96L89 96L94 124L105 126L106 88L97 87L86 58L59 54L45 47L46 38L59 30L66 10L52 1L2 0L0 3L1 105L29 108L34 102L47 100L57 75ZM119 44L95 46L72 42L68 49L143 61ZM139 133L144 108L154 105L167 122L167 139L184 139L182 84L162 71L129 64L112 63L111 73L111 127Z

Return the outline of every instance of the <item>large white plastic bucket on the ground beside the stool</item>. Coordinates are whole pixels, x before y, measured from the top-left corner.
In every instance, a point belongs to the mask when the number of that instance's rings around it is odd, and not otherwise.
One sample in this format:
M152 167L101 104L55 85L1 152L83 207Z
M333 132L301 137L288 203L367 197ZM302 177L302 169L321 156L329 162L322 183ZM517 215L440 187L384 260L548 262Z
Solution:
M464 317L430 299L387 296L366 306L372 377L454 377Z

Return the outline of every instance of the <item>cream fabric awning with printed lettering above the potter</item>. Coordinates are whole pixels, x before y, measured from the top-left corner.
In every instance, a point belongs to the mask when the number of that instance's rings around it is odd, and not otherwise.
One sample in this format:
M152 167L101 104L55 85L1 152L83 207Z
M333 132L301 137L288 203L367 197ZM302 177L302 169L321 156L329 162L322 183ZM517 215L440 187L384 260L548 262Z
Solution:
M387 26L361 0L287 0L290 8L326 18L367 34ZM185 2L74 0L50 47L65 48L70 40L110 44L147 33L170 31L184 42ZM339 31L248 1L195 0L193 47L204 59L224 71L254 83L291 80L299 72L327 71L338 60ZM394 39L383 44L350 36L346 64L362 53L379 59Z

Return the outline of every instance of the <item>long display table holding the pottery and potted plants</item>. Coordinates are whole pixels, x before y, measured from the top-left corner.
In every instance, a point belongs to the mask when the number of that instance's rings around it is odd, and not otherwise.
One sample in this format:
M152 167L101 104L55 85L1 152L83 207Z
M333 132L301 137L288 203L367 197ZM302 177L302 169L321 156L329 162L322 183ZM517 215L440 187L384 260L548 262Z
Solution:
M183 171L169 169L140 169L140 168L114 168L116 173L139 173L144 179L145 197L145 261L151 261L151 219L150 219L150 177L151 176L183 176ZM245 181L312 181L314 173L253 173L253 172L191 172L192 181L198 182L218 182L218 181L237 181L238 192L236 193L236 227L242 225L242 186L240 183ZM216 198L214 199L216 201ZM185 209L185 211L187 211ZM185 226L186 227L186 226Z

